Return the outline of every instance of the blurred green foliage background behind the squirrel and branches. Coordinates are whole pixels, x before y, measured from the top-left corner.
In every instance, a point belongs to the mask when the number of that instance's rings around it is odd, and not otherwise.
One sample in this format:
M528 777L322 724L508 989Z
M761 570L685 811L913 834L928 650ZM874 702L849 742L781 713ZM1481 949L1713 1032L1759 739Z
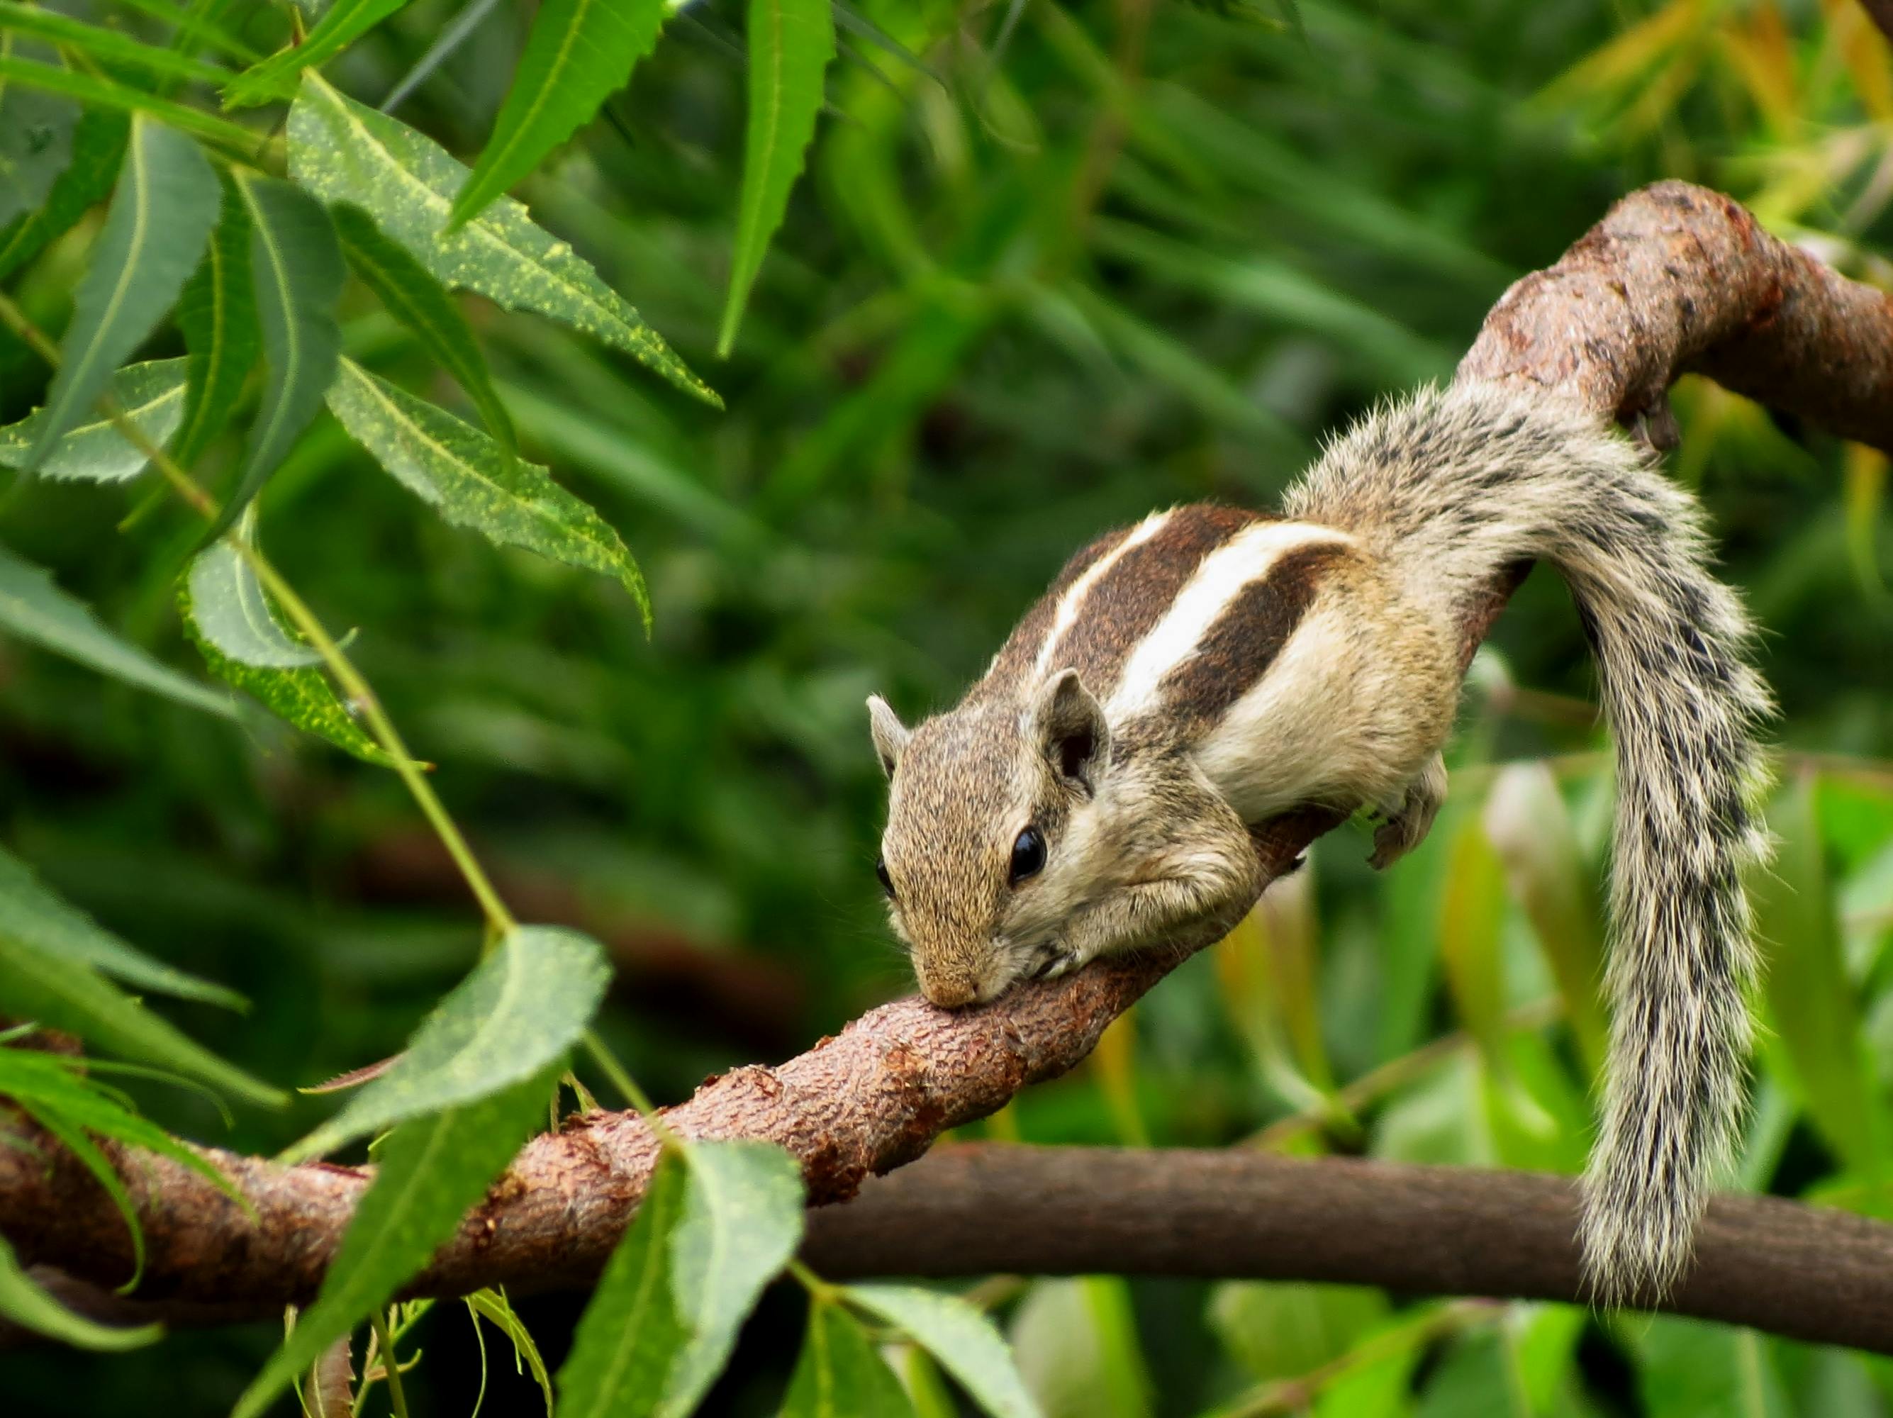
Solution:
M148 9L87 13L161 36ZM282 40L263 8L210 9L233 44ZM326 74L369 104L409 89L399 117L471 159L528 11L469 4L462 32L458 0L415 0ZM837 17L810 168L727 360L738 6L676 15L606 115L517 189L725 411L564 328L464 305L521 451L638 558L649 640L623 587L424 515L329 415L259 498L263 543L331 625L360 627L350 653L439 765L515 911L608 945L602 1032L659 1096L795 1053L907 988L871 873L882 786L861 700L948 704L1098 530L1177 500L1268 502L1323 430L1448 377L1507 282L1641 182L1723 187L1893 288L1893 57L1851 0L863 0ZM42 326L68 320L97 229L95 212L9 276ZM341 335L365 369L479 422L362 286ZM144 358L180 352L161 333ZM47 377L0 335L0 422ZM1783 710L1781 856L1757 882L1768 1034L1740 1185L1884 1215L1887 462L1694 381L1677 409L1672 471L1711 509ZM240 464L225 434L201 468L227 490ZM174 583L199 526L178 509L19 477L0 538L133 642L191 663ZM1577 621L1533 576L1475 666L1425 848L1374 877L1365 837L1321 842L1092 1066L986 1130L1577 1170L1603 744ZM392 774L9 638L0 835L104 926L248 996L248 1015L163 1009L273 1081L386 1056L479 948ZM225 1130L195 1096L125 1087L168 1126L244 1149L324 1111L305 1100ZM1893 1410L1878 1359L1679 1320L1306 1285L1017 1289L988 1299L1054 1418ZM521 1314L557 1363L575 1308ZM466 1410L466 1329L428 1325L415 1410ZM793 1308L765 1301L706 1412L772 1410L797 1333ZM274 1340L180 1335L0 1369L9 1412L199 1412L227 1407ZM926 1359L895 1359L916 1410L950 1410ZM488 1403L538 1401L494 1363Z

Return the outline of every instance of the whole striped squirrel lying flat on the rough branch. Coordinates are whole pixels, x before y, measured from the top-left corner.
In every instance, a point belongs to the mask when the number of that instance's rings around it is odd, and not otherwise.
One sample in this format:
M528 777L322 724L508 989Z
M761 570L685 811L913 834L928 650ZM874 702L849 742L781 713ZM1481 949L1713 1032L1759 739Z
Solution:
M1660 1297L1742 1121L1772 704L1694 498L1575 403L1424 390L1280 515L1181 505L1081 549L956 708L909 729L869 699L876 875L922 992L960 1007L1219 939L1265 886L1251 825L1289 808L1376 814L1386 867L1446 791L1461 621L1530 560L1569 583L1617 746L1584 1274L1601 1303Z

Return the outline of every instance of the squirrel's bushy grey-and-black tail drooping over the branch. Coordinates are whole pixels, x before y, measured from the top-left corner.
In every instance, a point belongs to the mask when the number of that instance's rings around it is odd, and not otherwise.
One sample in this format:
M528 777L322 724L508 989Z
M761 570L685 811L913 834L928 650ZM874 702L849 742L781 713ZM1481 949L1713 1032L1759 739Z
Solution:
M1707 570L1702 509L1583 409L1478 384L1371 415L1285 504L1378 545L1448 627L1518 560L1550 560L1571 587L1617 738L1584 1267L1598 1301L1660 1295L1742 1121L1757 969L1742 871L1766 852L1753 803L1770 700L1747 615Z

